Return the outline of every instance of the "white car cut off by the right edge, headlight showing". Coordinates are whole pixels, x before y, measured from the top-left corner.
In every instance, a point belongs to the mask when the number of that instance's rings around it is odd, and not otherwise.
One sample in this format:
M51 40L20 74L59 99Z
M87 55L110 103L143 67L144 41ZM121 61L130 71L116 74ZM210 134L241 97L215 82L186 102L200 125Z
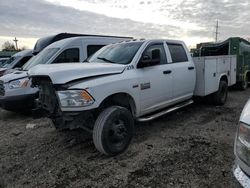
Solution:
M238 125L235 144L234 176L244 188L250 187L250 100L245 105Z

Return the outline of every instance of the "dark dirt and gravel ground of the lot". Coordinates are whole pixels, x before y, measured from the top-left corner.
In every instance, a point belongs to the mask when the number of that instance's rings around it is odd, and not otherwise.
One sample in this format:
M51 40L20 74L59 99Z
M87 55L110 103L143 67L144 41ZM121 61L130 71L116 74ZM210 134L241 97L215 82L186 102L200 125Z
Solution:
M128 150L114 158L84 132L1 110L0 187L239 187L233 141L249 96L231 91L223 107L196 103L137 124Z

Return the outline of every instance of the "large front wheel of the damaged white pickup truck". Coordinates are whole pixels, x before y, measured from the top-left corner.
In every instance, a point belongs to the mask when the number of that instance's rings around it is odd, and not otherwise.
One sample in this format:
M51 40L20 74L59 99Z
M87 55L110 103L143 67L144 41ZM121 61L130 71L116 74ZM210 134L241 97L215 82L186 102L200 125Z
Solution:
M131 112L120 106L111 106L102 111L95 122L94 145L99 152L115 156L127 149L133 133L134 119Z

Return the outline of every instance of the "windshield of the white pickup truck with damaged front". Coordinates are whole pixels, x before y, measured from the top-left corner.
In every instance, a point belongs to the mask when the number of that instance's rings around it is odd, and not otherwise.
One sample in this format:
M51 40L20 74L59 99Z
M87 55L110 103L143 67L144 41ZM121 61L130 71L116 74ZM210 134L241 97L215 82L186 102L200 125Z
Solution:
M115 63L129 64L143 42L128 42L111 44L101 48L92 57L87 59L88 62L97 63Z

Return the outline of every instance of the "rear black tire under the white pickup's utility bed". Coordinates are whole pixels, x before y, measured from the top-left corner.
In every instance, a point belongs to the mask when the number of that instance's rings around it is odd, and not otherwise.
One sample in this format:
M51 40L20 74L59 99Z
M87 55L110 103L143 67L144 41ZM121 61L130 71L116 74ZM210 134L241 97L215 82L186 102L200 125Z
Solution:
M227 82L221 80L219 84L219 89L212 95L213 103L215 105L224 105L227 101L228 86Z

